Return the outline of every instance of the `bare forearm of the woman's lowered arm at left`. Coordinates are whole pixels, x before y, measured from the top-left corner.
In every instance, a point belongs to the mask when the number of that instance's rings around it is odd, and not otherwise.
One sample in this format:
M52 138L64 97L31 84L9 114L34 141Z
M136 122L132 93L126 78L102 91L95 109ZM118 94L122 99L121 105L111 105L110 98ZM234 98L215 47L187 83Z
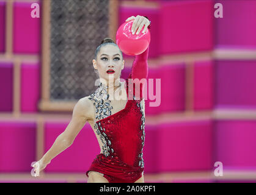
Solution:
M69 146L71 146L71 143L65 140L61 133L54 141L53 146L43 155L43 163L49 164L54 157L65 151Z

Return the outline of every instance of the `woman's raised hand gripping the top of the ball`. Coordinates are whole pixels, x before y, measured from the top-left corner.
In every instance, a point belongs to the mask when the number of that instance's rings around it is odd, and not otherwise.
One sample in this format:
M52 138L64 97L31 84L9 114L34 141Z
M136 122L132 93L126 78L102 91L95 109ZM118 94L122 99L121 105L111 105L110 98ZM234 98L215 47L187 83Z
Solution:
M147 30L147 27L150 25L150 21L147 18L145 18L144 16L137 15L136 17L131 16L130 18L127 18L126 22L133 20L133 19L134 19L134 21L133 21L133 26L131 27L131 33L134 35L134 33L137 31L136 35L138 35L144 26L145 27L144 27L142 33L145 33Z

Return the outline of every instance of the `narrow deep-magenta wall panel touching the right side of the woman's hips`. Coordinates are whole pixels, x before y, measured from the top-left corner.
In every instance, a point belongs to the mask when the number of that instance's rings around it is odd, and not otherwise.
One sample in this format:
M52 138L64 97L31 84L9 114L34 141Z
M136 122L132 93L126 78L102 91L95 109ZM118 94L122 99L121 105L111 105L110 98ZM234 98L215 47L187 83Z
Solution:
M158 172L158 126L145 124L144 173Z

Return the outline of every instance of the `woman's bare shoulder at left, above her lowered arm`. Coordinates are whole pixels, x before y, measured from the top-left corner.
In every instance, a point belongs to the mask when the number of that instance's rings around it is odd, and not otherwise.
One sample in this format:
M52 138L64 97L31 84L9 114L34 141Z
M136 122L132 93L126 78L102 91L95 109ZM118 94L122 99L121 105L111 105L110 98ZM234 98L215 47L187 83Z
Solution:
M93 103L90 101L89 96L79 99L74 107L73 113L80 115L87 120L93 119Z

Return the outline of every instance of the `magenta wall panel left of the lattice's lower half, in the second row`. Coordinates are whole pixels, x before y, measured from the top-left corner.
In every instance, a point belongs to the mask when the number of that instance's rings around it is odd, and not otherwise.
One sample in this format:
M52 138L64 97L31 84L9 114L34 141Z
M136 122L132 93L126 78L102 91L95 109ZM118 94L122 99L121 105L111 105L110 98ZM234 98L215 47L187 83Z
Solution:
M40 65L21 65L21 112L37 112L40 99Z

